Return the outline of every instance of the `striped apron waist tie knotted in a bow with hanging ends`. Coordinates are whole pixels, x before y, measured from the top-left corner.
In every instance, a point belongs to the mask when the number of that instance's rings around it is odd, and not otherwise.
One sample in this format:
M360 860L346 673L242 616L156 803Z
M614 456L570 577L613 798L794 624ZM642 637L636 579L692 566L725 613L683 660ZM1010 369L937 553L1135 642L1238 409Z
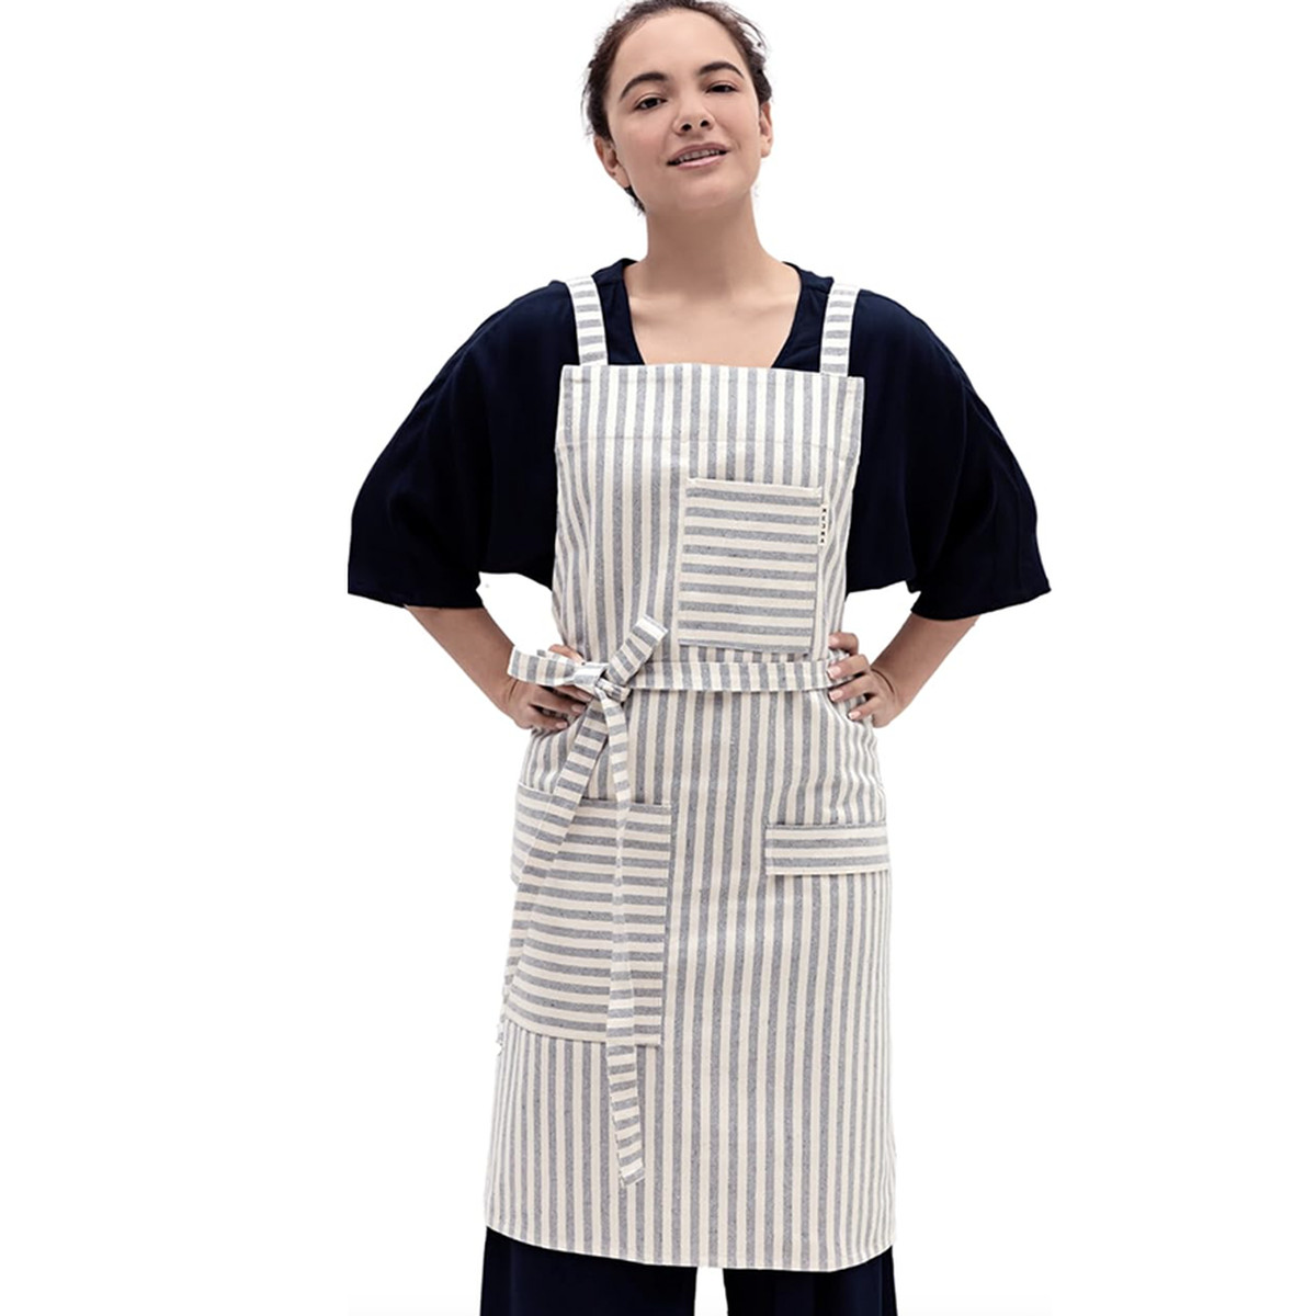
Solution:
M551 866L567 834L576 807L594 775L603 746L613 797L620 804L613 873L612 955L608 976L608 1021L604 1054L608 1099L616 1140L617 1163L624 1184L644 1178L644 1130L640 1119L640 1058L634 1032L634 987L626 955L626 925L622 917L622 874L626 824L630 817L630 754L626 717L621 709L632 690L815 690L832 686L828 663L834 658L762 662L650 662L667 628L641 613L621 646L605 659L580 661L540 649L530 653L513 646L508 675L536 686L578 686L597 699L572 728L571 750L558 772L544 817L526 846L526 859ZM844 650L834 650L844 654Z

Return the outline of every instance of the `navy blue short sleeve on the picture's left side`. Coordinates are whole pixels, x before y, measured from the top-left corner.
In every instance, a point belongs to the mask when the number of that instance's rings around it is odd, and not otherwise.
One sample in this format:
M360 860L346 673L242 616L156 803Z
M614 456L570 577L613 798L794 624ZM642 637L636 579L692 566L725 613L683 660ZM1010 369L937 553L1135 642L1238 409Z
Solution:
M371 466L351 511L349 594L479 608L482 571L551 583L562 345L520 307L453 354Z

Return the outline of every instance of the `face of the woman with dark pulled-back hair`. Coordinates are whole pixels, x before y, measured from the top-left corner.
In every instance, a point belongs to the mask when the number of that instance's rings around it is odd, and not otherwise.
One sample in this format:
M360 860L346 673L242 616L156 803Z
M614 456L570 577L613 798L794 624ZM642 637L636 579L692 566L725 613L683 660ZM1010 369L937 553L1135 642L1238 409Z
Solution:
M730 33L708 14L674 9L646 18L617 47L605 96L612 142L596 137L595 149L647 213L741 200L772 146L770 108L759 107ZM726 154L670 163L701 142Z

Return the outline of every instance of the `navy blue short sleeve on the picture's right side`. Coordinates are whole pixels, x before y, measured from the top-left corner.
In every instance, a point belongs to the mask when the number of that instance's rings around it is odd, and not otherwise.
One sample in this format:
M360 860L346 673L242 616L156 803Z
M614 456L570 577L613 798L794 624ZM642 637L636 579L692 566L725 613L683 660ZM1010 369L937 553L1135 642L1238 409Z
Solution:
M986 403L926 324L874 300L850 588L904 579L940 621L1046 594L1033 494Z

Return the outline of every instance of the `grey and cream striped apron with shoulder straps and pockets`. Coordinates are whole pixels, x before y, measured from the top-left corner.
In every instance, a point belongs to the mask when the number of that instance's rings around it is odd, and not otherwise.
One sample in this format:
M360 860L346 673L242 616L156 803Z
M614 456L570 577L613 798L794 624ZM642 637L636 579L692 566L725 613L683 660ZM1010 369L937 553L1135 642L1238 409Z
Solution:
M819 371L613 366L566 280L553 616L591 694L533 728L487 1224L680 1266L837 1270L894 1241L876 728L828 696L863 416L857 287Z

